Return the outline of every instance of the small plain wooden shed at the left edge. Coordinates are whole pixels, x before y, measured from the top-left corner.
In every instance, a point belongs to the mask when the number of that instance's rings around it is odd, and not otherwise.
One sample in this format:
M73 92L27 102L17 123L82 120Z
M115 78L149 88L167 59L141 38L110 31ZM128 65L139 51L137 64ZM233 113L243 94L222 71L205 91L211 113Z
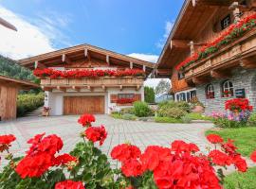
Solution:
M26 91L39 87L32 82L0 75L0 121L16 118L19 90Z

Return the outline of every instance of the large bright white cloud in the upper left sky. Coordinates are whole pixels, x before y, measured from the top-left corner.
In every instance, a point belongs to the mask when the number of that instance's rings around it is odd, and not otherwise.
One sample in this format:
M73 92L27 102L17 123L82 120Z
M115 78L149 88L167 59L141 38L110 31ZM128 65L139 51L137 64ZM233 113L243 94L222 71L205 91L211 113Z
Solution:
M58 15L47 11L33 18L16 14L0 6L0 17L7 20L18 31L0 26L0 54L11 59L24 59L56 50L56 46L69 46L69 38L62 29L70 23L70 15Z

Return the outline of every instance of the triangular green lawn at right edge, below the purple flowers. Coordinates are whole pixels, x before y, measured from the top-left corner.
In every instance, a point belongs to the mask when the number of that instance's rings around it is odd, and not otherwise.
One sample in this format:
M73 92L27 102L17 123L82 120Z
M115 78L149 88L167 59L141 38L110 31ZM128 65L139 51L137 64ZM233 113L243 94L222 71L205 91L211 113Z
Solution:
M251 152L256 149L256 127L206 131L206 135L211 133L219 134L226 141L234 140L234 144L243 156L249 157Z

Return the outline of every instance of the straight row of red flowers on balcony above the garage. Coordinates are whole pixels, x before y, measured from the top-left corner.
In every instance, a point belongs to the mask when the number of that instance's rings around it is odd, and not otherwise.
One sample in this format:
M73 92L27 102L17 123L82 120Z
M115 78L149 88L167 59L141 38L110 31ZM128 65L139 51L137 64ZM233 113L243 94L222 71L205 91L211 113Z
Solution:
M129 70L54 70L54 69L35 69L33 74L36 77L50 78L82 78L82 77L145 77L145 72L138 69Z

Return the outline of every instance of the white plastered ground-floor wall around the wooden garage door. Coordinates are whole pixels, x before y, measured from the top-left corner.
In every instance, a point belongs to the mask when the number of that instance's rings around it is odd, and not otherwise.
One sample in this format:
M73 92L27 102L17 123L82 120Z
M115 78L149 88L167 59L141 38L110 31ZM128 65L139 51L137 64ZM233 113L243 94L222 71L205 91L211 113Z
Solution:
M76 92L68 90L67 92L53 91L46 92L45 106L49 107L50 115L63 115L64 114L64 96L80 96L80 95L104 95L105 98L105 113L110 113L110 108L117 107L116 103L111 103L111 94L141 94L141 100L144 101L144 87L141 87L138 91L134 88L124 88L120 91L118 88L108 88L106 92L101 89L95 89L90 92L88 90L82 90ZM122 108L122 107L119 107Z

